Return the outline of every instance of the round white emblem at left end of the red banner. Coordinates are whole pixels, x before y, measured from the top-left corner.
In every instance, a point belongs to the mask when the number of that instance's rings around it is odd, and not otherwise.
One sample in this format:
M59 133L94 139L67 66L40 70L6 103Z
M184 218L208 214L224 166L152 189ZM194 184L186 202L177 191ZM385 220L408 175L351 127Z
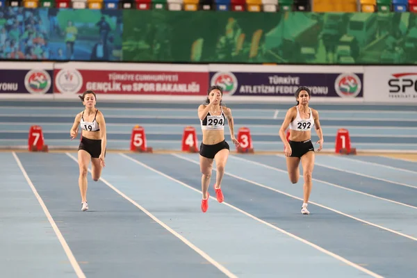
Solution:
M83 76L78 70L63 69L56 74L55 85L58 92L76 94L83 86Z

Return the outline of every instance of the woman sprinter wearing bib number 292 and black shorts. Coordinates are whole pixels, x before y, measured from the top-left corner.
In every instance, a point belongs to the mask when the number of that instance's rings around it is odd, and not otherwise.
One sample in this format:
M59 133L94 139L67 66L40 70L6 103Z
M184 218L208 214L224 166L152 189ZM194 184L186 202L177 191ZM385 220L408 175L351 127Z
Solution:
M301 213L309 214L307 204L311 193L311 177L314 167L314 147L311 142L311 129L316 125L316 133L318 135L318 152L321 151L323 145L323 133L318 120L318 112L309 108L309 100L311 91L309 88L300 87L295 92L297 106L291 107L286 113L284 122L279 129L279 137L284 142L284 153L286 155L286 164L288 175L292 183L297 183L300 177L300 161L302 163L304 177L304 202L302 204ZM286 129L290 126L289 141L286 139Z

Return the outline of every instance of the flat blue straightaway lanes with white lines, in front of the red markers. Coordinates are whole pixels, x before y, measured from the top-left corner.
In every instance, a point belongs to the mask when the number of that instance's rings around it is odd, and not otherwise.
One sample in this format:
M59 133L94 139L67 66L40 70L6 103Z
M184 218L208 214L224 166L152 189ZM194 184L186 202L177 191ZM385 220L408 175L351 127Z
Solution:
M209 208L198 154L1 152L2 277L417 277L417 165L316 156L310 215L280 155L231 154ZM302 171L301 171L302 174Z

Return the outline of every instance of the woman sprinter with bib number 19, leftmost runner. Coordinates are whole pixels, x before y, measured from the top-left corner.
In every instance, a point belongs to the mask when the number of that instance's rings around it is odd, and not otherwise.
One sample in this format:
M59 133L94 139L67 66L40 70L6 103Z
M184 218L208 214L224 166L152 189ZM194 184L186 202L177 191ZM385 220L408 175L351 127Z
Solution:
M85 110L76 115L70 131L71 140L78 134L78 126L81 124L81 142L78 150L80 167L79 187L81 191L81 211L88 210L87 203L87 170L91 161L92 179L98 181L101 169L105 166L106 156L106 122L104 116L97 108L96 95L92 91L85 91L79 96L83 101Z

